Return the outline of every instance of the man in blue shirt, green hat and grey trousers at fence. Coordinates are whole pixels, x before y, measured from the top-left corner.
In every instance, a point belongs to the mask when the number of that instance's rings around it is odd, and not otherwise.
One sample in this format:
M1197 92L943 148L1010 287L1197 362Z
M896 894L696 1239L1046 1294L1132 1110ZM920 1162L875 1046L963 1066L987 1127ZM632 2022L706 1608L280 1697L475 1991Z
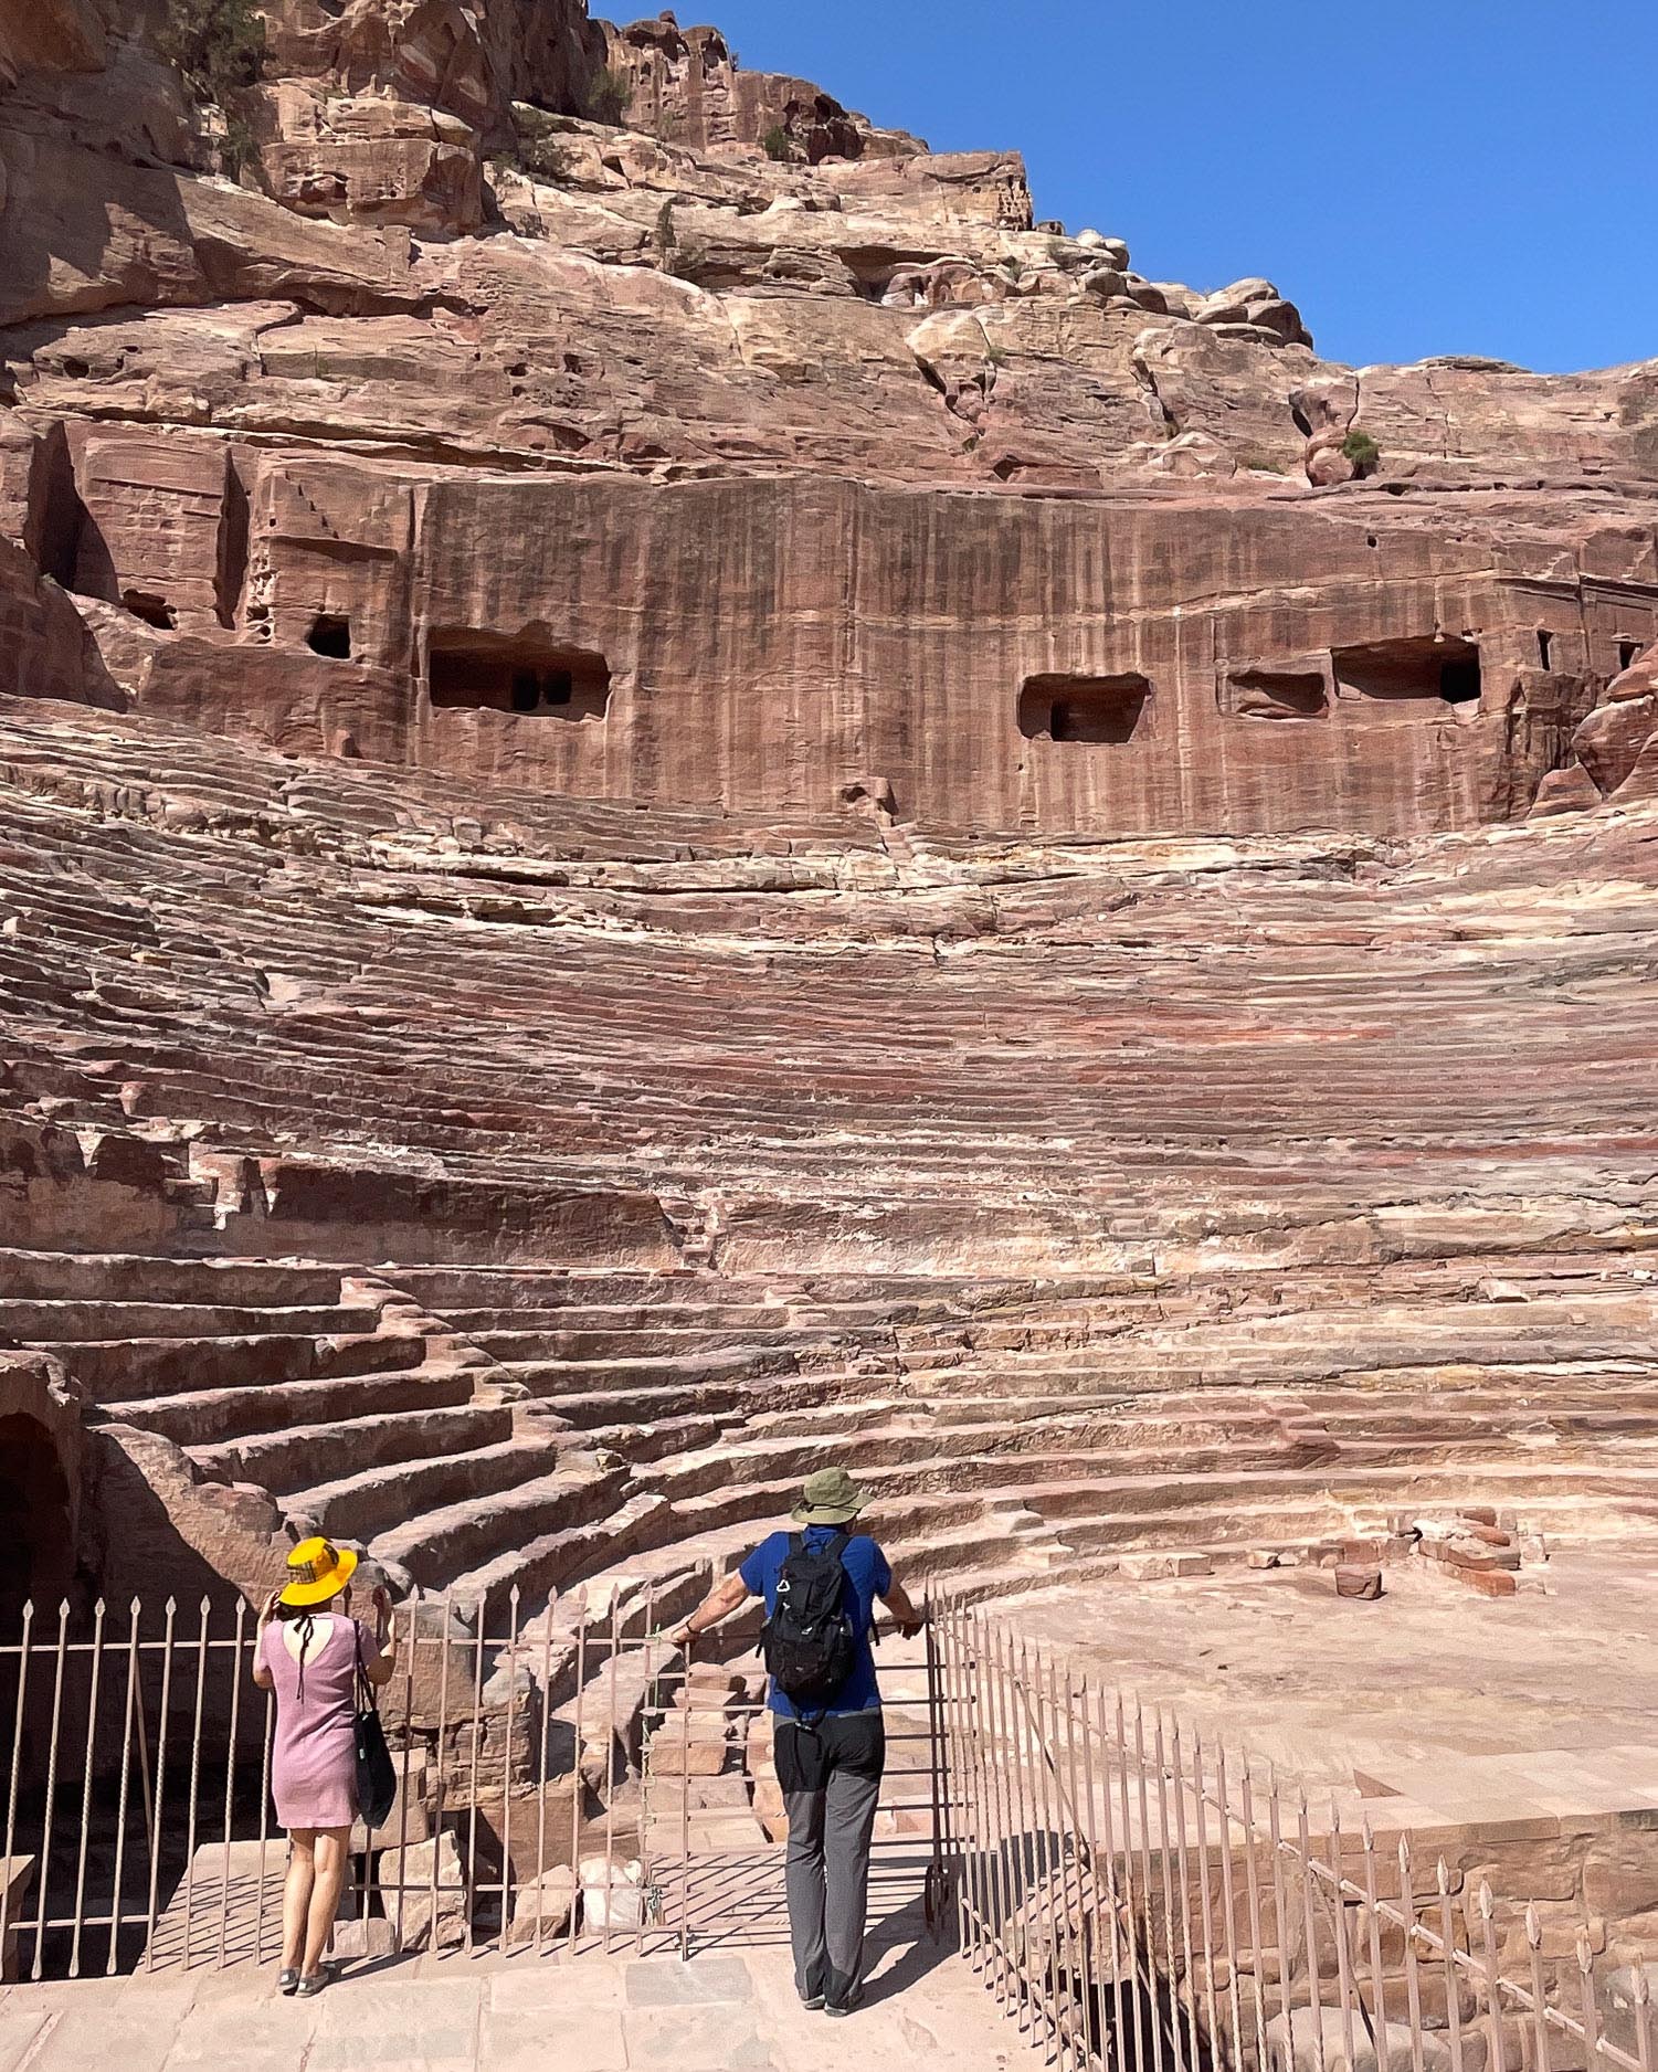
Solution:
M864 1496L844 1467L806 1477L790 1513L794 1531L771 1533L748 1560L719 1583L703 1604L667 1635L688 1647L698 1633L719 1624L746 1598L765 1598L777 1610L777 1579L796 1535L817 1550L848 1533L841 1550L841 1612L852 1624L854 1662L839 1689L821 1707L796 1707L771 1685L777 1716L777 1782L790 1819L783 1879L790 1898L794 1983L808 2008L850 2014L858 2004L868 1910L868 1848L887 1732L875 1680L875 1600L891 1610L906 1639L920 1633L920 1614L893 1581L887 1556L868 1537L852 1533Z

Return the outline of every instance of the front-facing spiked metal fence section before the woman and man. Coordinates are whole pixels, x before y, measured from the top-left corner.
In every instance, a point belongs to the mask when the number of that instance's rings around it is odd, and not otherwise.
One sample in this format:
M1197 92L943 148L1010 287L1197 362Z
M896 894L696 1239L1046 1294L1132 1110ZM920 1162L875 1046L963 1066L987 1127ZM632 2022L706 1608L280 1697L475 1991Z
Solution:
M352 1832L338 1948L690 1956L723 1933L734 1879L709 1867L767 1852L781 1794L759 1670L686 1664L661 1639L709 1583L574 1591L528 1620L514 1595L493 1631L481 1606L400 1612L379 1693L398 1798ZM2 1977L276 1958L286 1842L255 1647L240 1602L25 1608L0 1641ZM883 1813L922 1871L941 1769L926 1674L883 1664ZM939 1890L935 1865L935 1910Z

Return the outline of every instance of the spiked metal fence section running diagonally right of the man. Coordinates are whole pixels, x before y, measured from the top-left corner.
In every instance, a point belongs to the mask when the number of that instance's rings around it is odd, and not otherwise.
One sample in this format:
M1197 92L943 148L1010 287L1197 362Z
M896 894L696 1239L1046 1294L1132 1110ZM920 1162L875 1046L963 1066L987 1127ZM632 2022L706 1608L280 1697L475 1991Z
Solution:
M1648 1973L1588 1931L1548 1948L982 1612L931 1637L962 1948L1061 2072L1652 2072Z

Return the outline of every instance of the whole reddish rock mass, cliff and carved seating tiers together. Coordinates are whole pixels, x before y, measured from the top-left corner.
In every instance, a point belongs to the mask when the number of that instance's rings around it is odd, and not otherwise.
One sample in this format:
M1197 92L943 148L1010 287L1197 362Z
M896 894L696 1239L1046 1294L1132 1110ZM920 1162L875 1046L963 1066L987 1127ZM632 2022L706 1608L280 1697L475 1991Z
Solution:
M191 19L0 0L35 1587L667 1604L825 1446L987 1589L1648 1531L1658 363L671 17Z

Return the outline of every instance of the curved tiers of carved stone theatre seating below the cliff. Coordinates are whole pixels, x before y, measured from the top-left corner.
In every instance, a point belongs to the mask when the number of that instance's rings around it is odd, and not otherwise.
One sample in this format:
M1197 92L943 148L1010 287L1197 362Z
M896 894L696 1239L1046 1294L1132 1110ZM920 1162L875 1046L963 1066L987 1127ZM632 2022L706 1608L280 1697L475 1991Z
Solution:
M682 1591L825 1448L974 1587L1650 1531L1650 806L947 839L8 700L0 814L0 1332L247 1587Z

